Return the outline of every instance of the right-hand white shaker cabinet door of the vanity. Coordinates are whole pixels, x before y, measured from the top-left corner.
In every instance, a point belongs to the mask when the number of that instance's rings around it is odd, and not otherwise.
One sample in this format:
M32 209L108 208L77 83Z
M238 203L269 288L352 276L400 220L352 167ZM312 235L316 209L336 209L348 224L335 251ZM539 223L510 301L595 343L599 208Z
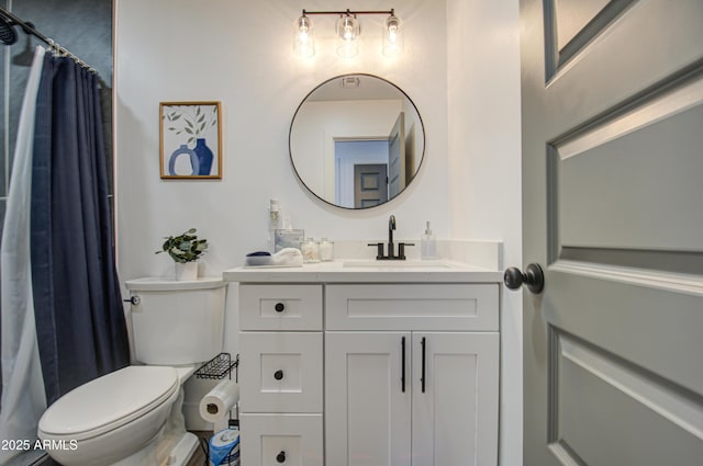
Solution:
M412 340L412 464L495 466L499 334L413 332Z

